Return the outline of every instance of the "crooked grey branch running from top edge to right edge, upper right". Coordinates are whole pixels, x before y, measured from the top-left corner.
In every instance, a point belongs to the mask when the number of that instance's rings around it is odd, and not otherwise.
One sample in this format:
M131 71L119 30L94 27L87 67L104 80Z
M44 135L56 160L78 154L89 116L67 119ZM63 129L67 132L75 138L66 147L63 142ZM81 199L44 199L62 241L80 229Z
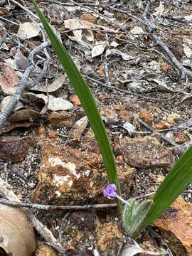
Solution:
M186 68L183 67L183 65L180 63L180 61L177 60L177 58L175 57L175 55L173 53L171 53L171 50L169 50L168 46L166 46L166 44L158 37L156 36L156 34L154 33L153 28L151 28L151 21L149 21L149 19L146 17L147 13L149 11L149 7L150 5L153 3L154 1L149 1L146 4L145 10L144 10L144 14L142 15L144 21L146 23L148 23L147 29L149 31L151 38L154 39L155 43L158 46L161 46L162 50L164 50L164 52L168 55L169 59L171 60L171 63L174 64L174 66L181 71L181 79L185 78L186 76L188 76L188 78L192 78L192 72Z

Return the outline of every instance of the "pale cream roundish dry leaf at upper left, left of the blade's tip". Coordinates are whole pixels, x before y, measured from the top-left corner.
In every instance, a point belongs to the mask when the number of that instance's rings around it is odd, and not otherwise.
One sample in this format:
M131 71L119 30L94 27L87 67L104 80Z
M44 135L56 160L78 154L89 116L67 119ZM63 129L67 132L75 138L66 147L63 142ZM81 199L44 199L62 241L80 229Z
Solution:
M18 28L18 36L23 39L33 38L38 36L40 29L33 22L20 23Z

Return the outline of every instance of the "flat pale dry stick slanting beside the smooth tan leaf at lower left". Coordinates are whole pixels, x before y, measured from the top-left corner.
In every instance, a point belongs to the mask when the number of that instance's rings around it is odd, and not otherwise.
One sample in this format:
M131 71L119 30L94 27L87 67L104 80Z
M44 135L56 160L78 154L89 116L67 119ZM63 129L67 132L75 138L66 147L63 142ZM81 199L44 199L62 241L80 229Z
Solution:
M11 190L8 183L3 181L0 178L0 196L2 198L5 198L7 201L14 201L17 203L20 203L16 195L14 194L14 191ZM65 255L65 249L62 245L54 238L53 234L48 230L46 225L43 225L39 220L36 219L36 217L31 213L28 208L23 208L24 213L28 216L29 220L31 220L31 223L33 224L33 227L36 228L37 232L48 242L49 245L51 245L55 250L57 250L61 255Z

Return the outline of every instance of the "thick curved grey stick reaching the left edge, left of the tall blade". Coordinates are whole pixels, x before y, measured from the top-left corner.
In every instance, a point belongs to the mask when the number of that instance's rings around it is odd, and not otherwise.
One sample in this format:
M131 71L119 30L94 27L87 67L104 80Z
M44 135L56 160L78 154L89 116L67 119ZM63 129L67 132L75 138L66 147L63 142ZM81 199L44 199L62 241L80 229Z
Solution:
M21 99L21 95L23 94L23 91L26 89L28 85L28 77L35 68L35 64L33 61L34 56L37 55L41 50L43 50L47 46L50 46L50 42L42 43L40 46L34 48L28 55L29 66L23 74L21 82L18 83L18 87L16 88L16 92L14 93L14 95L11 97L11 101L8 103L8 105L6 105L4 110L0 112L0 128L4 126L7 118L9 117L9 114L11 114L11 112L14 110L14 107Z

